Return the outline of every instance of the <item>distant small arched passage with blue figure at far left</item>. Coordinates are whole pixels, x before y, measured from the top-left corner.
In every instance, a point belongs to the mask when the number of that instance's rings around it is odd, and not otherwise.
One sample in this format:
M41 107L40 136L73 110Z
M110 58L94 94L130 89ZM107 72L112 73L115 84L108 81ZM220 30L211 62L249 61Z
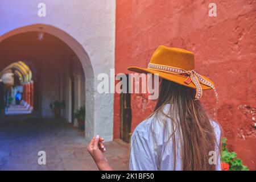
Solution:
M0 72L5 114L30 114L34 108L34 81L32 71L23 61L11 63Z

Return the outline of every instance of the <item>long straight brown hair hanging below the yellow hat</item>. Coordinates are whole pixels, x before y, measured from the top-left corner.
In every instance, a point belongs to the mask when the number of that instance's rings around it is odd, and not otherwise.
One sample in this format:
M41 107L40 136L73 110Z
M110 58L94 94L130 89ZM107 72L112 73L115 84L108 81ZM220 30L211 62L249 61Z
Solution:
M182 170L216 170L209 164L209 152L216 151L218 144L210 118L200 101L195 101L195 90L165 79L160 83L160 93L154 113L156 117L171 118L171 135L174 169L176 152L180 142ZM168 114L163 106L170 104ZM182 141L177 142L177 135Z

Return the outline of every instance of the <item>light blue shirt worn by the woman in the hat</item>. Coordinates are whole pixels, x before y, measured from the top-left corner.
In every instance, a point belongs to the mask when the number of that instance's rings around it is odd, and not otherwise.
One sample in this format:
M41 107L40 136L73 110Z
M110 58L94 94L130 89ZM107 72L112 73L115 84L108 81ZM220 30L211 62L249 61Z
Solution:
M170 104L164 106L164 113L170 109ZM161 120L161 119L159 119ZM166 119L165 119L166 120ZM218 124L211 121L214 132L216 133L217 143L220 143L221 130ZM131 171L173 171L174 170L174 155L172 139L170 134L172 130L170 118L166 122L156 121L156 117L152 116L135 128L133 134L131 135L130 142L130 163L129 169ZM180 142L179 135L175 131L175 141L176 141L176 167L175 169L180 171L181 166L181 154L180 154ZM210 158L210 156L209 156ZM220 155L218 148L216 148L216 158L217 158L217 170L221 170L220 166Z

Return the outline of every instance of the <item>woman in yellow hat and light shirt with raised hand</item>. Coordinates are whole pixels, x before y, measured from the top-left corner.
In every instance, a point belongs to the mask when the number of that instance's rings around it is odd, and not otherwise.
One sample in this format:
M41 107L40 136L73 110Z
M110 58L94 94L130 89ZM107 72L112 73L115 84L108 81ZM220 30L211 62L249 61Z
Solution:
M218 95L213 81L195 71L194 54L159 46L147 68L128 69L160 77L155 109L131 135L129 169L221 170L221 129L199 101L203 90L213 89L217 101ZM112 170L103 140L97 135L87 149L100 170Z

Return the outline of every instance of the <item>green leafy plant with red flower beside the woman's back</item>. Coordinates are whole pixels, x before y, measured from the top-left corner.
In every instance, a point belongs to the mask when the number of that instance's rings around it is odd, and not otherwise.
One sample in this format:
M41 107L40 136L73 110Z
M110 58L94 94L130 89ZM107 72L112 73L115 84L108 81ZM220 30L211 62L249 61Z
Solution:
M237 158L236 152L229 152L226 148L226 138L222 138L222 159L221 170L222 171L249 171L247 166L243 165L241 159Z

